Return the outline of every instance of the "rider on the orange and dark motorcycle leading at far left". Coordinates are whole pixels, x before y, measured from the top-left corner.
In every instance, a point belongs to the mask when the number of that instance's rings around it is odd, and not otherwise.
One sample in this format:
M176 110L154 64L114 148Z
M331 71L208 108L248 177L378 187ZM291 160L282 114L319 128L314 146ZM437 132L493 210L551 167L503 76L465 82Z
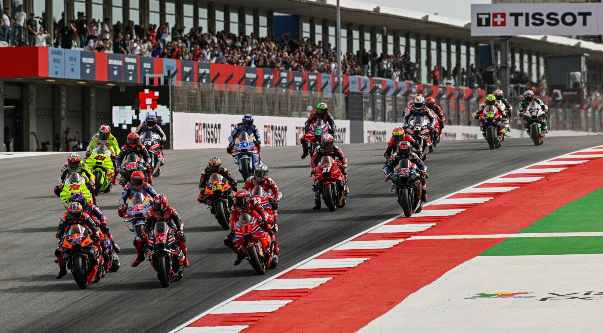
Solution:
M67 208L67 212L63 214L60 222L58 223L58 229L55 235L58 239L58 247L56 250L54 250L54 255L57 257L59 269L58 274L56 276L57 279L63 278L63 276L67 274L67 270L65 268L65 261L63 261L63 256L61 254L61 244L63 244L63 236L65 235L66 230L74 224L81 224L84 227L87 227L88 229L92 230L92 233L90 234L90 239L92 239L96 248L98 250L101 250L101 244L99 243L101 241L101 230L96 227L96 224L94 223L94 221L92 221L90 215L84 213L84 209L82 208L80 203L70 203Z

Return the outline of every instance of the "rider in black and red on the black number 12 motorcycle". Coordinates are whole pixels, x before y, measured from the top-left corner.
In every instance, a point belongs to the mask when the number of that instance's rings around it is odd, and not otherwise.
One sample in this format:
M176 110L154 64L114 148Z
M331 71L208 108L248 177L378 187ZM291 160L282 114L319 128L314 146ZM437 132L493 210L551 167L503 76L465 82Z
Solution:
M153 207L147 212L147 221L145 227L142 229L142 235L136 246L136 260L132 262L132 267L136 267L140 262L145 261L144 243L149 241L149 236L145 232L145 229L151 230L155 227L157 221L167 221L168 224L176 231L176 238L178 239L178 247L182 250L185 255L185 267L189 266L188 255L186 254L186 236L184 232L185 224L180 220L180 215L171 206L168 206L168 197L165 194L157 194L153 198Z

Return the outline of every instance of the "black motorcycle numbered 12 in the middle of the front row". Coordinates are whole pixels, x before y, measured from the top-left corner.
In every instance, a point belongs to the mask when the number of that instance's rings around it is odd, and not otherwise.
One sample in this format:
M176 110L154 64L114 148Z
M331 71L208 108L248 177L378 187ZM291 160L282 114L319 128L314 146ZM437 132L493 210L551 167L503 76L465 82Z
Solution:
M178 247L174 229L165 220L159 220L150 230L149 241L145 244L145 256L157 272L163 288L172 281L180 281L184 274L185 254Z

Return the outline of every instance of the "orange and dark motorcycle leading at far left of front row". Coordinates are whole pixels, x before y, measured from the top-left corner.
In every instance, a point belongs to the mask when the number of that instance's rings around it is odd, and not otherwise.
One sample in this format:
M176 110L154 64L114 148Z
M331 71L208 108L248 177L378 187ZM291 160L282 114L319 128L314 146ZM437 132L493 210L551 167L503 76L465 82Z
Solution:
M105 274L103 256L90 239L90 230L74 224L63 238L61 255L80 289L98 282Z

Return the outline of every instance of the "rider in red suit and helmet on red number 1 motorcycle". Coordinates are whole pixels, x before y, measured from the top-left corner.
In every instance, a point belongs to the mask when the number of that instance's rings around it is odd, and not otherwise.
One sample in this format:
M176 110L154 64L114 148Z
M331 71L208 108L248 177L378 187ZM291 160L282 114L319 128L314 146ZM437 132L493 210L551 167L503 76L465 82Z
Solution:
M230 247L236 253L236 260L233 265L240 264L241 260L245 258L235 249L235 245L232 243L233 238L235 238L235 226L241 214L248 214L260 220L260 226L268 232L270 239L274 242L274 254L279 254L279 244L276 243L271 226L267 224L268 212L264 211L259 201L251 199L251 194L246 189L239 189L235 194L235 205L230 208L230 233L224 236L223 242L225 246Z

